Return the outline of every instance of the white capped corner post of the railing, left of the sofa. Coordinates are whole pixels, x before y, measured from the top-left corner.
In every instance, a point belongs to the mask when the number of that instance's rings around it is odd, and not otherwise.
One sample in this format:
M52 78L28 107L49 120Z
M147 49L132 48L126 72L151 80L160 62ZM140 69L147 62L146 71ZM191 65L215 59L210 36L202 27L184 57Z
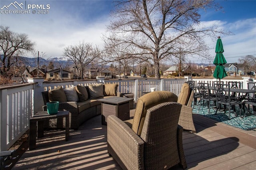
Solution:
M28 78L28 83L37 83L34 85L34 94L32 95L32 115L36 112L43 111L42 106L44 105L44 100L42 97L42 91L44 78ZM34 111L34 112L33 112Z

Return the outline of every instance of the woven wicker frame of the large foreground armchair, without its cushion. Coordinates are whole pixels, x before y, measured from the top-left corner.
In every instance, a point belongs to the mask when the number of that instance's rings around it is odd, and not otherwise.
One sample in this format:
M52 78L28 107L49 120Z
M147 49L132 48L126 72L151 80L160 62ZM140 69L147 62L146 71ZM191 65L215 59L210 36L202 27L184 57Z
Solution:
M108 153L122 169L158 170L176 164L185 169L182 127L178 125L181 107L179 103L166 102L148 109L140 136L124 121L110 115Z

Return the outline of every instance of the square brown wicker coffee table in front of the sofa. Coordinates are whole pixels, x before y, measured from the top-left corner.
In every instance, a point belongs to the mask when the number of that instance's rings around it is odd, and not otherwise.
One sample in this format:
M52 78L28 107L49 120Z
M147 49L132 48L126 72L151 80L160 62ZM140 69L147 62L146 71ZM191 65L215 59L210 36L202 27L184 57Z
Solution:
M109 115L116 115L122 121L130 119L129 102L133 101L131 98L124 97L108 97L105 99L98 99L101 102L101 124L107 125L107 118Z

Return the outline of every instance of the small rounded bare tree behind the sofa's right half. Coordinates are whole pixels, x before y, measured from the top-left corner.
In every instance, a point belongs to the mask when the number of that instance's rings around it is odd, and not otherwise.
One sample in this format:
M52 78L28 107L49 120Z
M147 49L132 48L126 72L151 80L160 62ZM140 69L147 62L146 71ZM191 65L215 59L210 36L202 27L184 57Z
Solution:
M84 79L84 68L100 57L100 50L90 43L79 42L76 45L65 47L63 55L74 62L78 76Z

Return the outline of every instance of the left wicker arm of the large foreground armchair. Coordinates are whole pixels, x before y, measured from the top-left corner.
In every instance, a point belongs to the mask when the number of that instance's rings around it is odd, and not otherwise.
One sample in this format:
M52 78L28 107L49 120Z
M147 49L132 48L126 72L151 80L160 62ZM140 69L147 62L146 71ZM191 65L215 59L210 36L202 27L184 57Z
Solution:
M144 167L144 141L115 115L108 116L108 153L122 168Z

